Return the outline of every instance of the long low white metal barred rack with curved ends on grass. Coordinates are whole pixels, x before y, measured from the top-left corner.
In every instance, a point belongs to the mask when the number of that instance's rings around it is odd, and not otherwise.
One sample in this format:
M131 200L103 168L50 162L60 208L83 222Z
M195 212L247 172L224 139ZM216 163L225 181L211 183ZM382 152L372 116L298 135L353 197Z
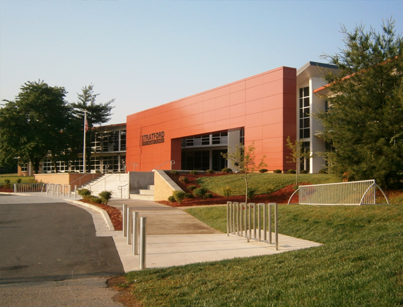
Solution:
M389 204L387 196L375 183L375 180L299 186L293 195L298 192L298 203L301 205L375 205L376 188L384 195L386 203ZM288 200L288 204L291 198Z

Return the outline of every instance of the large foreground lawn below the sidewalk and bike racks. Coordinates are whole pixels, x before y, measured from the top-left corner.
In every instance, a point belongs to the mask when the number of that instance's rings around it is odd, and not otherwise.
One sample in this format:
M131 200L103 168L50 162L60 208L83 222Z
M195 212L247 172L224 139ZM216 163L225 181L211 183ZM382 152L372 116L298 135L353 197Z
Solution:
M226 231L226 207L187 212ZM281 205L279 231L325 244L130 272L132 294L144 306L403 305L403 205Z

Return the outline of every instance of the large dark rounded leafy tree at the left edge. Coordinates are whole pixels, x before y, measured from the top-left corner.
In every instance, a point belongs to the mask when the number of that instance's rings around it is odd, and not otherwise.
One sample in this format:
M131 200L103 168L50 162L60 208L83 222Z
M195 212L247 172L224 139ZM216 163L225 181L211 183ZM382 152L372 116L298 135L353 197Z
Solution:
M4 100L0 109L0 164L32 162L35 173L47 155L68 151L66 132L71 107L64 100L66 90L44 81L27 82L15 101Z

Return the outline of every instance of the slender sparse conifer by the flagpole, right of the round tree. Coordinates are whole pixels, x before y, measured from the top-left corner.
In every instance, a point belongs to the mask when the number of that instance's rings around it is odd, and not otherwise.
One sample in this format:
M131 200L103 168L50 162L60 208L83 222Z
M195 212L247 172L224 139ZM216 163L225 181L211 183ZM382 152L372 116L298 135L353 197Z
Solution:
M84 86L81 89L81 93L77 95L78 101L72 103L71 106L74 107L74 114L82 127L84 125L84 112L87 112L86 119L88 122L88 131L86 136L86 167L87 169L90 169L92 128L95 125L105 124L110 120L112 109L114 108L112 104L115 102L115 99L97 104L95 100L100 94L94 94L92 84Z

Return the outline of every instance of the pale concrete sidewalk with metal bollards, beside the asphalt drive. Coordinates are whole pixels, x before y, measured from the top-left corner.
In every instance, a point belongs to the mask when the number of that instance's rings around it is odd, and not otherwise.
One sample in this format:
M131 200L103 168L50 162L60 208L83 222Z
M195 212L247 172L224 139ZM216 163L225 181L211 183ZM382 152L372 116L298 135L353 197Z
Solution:
M139 270L139 255L132 255L132 245L127 245L127 239L122 236L122 231L110 230L111 223L107 221L107 215L101 213L102 210L98 207L86 205L74 198L43 194L40 198L54 200L57 198L59 202L69 202L90 212L93 216L96 235L112 236L115 241L124 271ZM146 267L171 267L256 255L273 255L321 245L279 234L279 251L276 251L274 234L272 234L273 243L271 244L255 240L248 243L245 238L221 234L178 207L147 200L111 200L108 203L119 210L122 210L123 204L133 207L134 211L139 212L139 217L147 217Z

